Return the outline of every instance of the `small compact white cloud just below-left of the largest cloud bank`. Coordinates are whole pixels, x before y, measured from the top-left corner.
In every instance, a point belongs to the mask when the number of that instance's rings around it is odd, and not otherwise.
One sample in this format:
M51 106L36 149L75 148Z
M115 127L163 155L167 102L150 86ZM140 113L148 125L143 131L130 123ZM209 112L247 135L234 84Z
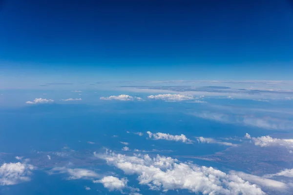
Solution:
M127 179L119 179L114 176L105 176L100 180L93 181L94 183L102 183L109 191L122 190L127 187Z

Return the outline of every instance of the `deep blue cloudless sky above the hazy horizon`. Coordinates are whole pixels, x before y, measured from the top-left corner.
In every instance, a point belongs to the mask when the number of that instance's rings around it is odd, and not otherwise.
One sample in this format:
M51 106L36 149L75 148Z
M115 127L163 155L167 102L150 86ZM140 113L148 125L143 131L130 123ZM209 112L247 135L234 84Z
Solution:
M6 80L291 79L289 0L0 2Z

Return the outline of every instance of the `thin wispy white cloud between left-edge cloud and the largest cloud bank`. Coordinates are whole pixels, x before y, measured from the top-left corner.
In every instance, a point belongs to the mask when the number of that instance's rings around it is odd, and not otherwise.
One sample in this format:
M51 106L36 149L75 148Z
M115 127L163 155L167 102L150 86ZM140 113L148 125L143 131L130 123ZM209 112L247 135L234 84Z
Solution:
M94 171L88 169L70 169L66 167L55 167L48 172L49 175L53 174L67 174L67 179L92 179L97 178L99 175Z

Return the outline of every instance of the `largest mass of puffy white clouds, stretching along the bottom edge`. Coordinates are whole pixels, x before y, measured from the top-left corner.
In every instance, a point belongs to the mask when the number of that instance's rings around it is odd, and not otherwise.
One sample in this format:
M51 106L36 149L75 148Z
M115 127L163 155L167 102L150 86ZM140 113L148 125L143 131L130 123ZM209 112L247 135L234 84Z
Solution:
M128 175L138 175L141 185L151 190L188 190L209 195L265 195L261 188L235 173L226 174L212 167L179 162L165 156L125 156L107 151L95 154Z

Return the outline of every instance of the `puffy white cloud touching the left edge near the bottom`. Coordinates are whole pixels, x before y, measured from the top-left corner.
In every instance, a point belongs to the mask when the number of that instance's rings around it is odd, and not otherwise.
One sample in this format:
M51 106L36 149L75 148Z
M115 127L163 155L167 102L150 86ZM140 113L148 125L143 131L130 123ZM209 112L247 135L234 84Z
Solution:
M25 163L4 163L0 167L0 185L15 185L30 180L34 166Z

